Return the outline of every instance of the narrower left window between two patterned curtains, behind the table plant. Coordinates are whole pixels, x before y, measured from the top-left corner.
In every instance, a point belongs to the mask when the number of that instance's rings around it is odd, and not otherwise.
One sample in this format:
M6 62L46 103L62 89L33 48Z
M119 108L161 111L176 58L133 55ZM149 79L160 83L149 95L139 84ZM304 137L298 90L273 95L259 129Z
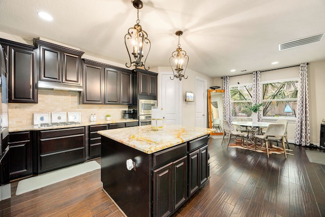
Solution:
M230 87L232 115L235 117L250 117L252 112L245 106L252 104L252 84Z

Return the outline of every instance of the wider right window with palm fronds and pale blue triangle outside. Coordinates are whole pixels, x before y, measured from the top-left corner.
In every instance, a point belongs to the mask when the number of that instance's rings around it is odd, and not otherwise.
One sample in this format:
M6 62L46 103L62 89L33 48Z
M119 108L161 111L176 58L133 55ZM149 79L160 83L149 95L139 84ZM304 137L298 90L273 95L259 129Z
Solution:
M298 80L263 84L264 117L296 117Z

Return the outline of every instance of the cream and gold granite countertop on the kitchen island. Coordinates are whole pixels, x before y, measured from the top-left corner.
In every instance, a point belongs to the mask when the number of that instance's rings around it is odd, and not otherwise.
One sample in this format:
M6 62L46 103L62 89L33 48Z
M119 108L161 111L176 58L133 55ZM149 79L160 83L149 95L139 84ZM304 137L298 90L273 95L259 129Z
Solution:
M153 130L151 125L145 125L127 129L120 128L98 131L98 133L122 144L150 154L208 135L215 131L215 129L209 128L165 124L163 129L158 130Z

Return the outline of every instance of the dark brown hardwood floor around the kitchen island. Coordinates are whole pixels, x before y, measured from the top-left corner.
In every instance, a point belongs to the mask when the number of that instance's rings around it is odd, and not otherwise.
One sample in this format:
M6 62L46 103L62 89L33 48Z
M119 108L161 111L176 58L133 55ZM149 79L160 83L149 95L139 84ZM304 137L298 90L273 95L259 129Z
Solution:
M325 166L308 161L312 148L291 144L294 156L268 159L223 143L210 138L211 177L173 217L325 216ZM4 216L123 216L102 191L100 170L18 196L16 188L2 201Z

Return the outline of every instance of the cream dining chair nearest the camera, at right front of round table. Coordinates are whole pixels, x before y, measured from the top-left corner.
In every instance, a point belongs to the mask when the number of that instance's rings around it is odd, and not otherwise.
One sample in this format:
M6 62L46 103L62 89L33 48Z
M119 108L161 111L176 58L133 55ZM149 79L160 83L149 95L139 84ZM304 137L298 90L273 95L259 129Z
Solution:
M255 150L257 139L261 139L262 147L265 144L266 152L269 158L269 142L272 141L281 141L283 146L284 156L286 158L286 149L284 144L284 134L285 134L285 125L283 123L271 123L268 128L266 129L265 134L263 135L255 135L254 143L255 143ZM271 146L270 146L271 148Z

